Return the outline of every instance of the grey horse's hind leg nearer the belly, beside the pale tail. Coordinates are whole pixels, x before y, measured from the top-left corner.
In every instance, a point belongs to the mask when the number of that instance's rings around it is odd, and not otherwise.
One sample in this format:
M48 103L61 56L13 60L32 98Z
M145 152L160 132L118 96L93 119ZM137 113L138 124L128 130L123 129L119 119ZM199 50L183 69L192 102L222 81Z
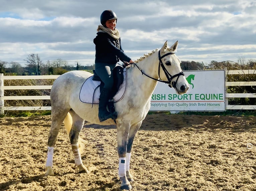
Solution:
M74 154L75 164L79 168L79 173L89 173L89 171L87 170L87 168L84 166L82 162L81 153L79 151L79 148L81 146L79 144L79 139L80 139L79 134L84 126L85 121L80 116L78 116L78 114L76 114L73 110L70 110L70 114L72 116L72 127L69 132L69 138L72 146L72 151ZM64 123L66 121L67 119L65 119ZM70 124L70 122L68 122L68 124ZM65 123L65 128L67 131L68 131L68 128L66 127L66 125L68 124L67 122Z

